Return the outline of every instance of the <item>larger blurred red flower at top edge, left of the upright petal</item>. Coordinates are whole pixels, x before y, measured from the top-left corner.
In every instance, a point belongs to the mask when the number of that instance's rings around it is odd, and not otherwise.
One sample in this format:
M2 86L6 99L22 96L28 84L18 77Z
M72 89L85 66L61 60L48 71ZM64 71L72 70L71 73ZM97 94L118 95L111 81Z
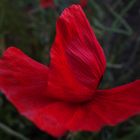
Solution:
M53 0L40 0L40 6L42 8L54 8Z

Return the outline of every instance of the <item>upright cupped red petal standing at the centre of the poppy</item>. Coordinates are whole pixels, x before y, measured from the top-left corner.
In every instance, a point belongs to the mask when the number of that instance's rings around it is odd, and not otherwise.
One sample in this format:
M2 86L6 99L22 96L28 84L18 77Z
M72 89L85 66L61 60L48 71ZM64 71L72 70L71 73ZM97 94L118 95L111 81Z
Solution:
M105 71L106 61L80 6L64 10L56 32L48 78L50 94L73 102L88 100Z

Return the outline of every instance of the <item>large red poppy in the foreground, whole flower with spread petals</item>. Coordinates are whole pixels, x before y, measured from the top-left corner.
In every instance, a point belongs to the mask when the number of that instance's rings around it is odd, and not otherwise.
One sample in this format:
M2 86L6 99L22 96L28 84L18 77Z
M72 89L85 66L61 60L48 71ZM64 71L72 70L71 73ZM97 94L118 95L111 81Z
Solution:
M51 62L42 65L15 47L0 59L0 90L40 129L98 131L140 113L140 80L106 90L103 50L80 6L66 8L57 21Z

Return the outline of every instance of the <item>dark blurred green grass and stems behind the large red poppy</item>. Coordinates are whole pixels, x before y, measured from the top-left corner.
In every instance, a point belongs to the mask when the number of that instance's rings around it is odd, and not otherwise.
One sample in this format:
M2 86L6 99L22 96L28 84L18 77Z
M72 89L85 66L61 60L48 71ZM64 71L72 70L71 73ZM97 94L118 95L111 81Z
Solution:
M48 64L56 20L65 7L78 2L55 0L55 8L43 9L39 0L0 0L0 54L7 47L16 46ZM140 1L89 0L84 11L107 58L101 87L115 87L140 78ZM27 139L55 138L20 116L0 94L0 140ZM105 127L98 133L68 133L59 140L140 140L140 117Z

